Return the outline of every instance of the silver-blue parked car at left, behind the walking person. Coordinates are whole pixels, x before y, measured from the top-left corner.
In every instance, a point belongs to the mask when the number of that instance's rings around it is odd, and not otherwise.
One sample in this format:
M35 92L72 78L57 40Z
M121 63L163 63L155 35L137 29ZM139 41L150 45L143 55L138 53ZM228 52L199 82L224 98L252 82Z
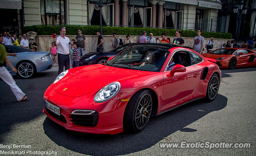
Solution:
M16 57L8 56L12 65L18 70L17 75L23 78L31 78L36 73L52 68L50 52L27 50L20 46L4 45L7 53L17 53ZM12 69L6 65L6 69L12 74Z

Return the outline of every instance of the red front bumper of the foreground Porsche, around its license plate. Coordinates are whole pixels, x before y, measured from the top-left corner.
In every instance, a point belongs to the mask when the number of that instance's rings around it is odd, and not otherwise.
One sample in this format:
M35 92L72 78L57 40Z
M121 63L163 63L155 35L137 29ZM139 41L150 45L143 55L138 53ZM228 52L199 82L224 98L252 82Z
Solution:
M51 87L49 87L51 88ZM68 130L95 134L117 134L123 132L123 116L127 102L119 100L109 100L104 103L94 103L88 97L94 97L94 93L82 97L68 97L47 89L44 99L49 103L60 107L60 116L52 113L46 107L43 112L54 122L60 124ZM81 118L71 115L74 110L92 110L96 111L95 117L85 117L82 119L92 120L92 124L84 124ZM74 120L75 118L75 120Z

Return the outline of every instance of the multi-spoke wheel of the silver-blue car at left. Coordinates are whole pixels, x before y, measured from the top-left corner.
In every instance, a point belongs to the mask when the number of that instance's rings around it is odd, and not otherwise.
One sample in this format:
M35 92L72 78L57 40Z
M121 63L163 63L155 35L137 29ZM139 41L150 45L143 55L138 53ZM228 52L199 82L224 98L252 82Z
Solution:
M35 65L29 61L20 62L17 65L17 69L17 75L25 79L33 77L36 73Z

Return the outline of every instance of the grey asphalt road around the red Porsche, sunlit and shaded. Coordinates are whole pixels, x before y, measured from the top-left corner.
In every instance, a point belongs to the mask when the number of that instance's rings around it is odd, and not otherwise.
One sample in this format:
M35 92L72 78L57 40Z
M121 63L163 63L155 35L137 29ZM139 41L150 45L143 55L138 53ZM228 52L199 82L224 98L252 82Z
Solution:
M69 131L42 113L44 91L57 75L51 70L32 79L14 76L28 96L28 101L22 103L16 102L10 87L0 80L0 152L20 152L0 156L46 156L52 151L57 156L256 155L256 67L222 70L219 93L210 103L188 103L152 117L142 132L116 135ZM160 148L160 143L183 141L191 145L207 141L250 143L250 148ZM25 146L14 148L16 145Z

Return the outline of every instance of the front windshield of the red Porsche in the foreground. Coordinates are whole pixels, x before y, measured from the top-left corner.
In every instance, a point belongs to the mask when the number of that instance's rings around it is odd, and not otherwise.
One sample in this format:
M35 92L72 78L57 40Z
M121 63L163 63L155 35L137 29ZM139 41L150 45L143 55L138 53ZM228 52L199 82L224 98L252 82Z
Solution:
M148 45L145 47L145 45L134 45L128 47L104 65L159 72L169 53L168 50L155 46Z

